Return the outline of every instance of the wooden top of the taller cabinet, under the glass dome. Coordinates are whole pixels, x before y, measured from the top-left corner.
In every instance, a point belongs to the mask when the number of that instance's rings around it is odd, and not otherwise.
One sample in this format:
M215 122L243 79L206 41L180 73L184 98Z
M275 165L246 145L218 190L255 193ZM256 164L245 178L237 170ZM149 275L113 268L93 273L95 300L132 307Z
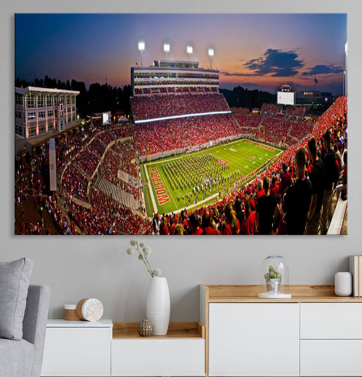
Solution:
M260 285L203 285L207 303L362 303L362 297L338 297L333 285L289 286L291 299L259 299Z

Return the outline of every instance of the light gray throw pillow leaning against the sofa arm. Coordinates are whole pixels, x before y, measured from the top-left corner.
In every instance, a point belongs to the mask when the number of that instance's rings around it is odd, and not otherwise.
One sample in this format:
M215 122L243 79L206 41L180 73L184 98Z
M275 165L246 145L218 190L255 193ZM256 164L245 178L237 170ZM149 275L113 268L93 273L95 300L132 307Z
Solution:
M33 261L0 262L0 338L20 340Z

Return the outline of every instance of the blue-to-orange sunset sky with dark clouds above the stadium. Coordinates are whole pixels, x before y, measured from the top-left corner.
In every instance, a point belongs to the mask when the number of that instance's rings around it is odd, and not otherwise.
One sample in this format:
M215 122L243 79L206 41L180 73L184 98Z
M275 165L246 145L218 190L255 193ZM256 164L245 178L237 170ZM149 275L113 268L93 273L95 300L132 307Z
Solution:
M346 14L16 14L15 78L47 74L112 86L130 83L130 67L165 59L191 60L220 70L220 87L275 93L288 82L296 91L342 94Z

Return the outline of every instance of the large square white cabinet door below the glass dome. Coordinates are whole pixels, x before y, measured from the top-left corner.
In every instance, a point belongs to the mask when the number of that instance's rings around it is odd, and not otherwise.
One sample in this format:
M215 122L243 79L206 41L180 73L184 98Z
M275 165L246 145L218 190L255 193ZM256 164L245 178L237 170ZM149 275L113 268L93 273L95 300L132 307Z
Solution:
M209 304L210 376L298 376L298 303Z

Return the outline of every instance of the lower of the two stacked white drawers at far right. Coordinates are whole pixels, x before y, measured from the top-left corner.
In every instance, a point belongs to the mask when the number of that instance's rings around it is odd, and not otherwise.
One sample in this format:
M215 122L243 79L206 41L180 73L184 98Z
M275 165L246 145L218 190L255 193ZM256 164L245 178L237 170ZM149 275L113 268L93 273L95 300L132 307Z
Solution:
M301 340L300 375L362 375L362 340Z

